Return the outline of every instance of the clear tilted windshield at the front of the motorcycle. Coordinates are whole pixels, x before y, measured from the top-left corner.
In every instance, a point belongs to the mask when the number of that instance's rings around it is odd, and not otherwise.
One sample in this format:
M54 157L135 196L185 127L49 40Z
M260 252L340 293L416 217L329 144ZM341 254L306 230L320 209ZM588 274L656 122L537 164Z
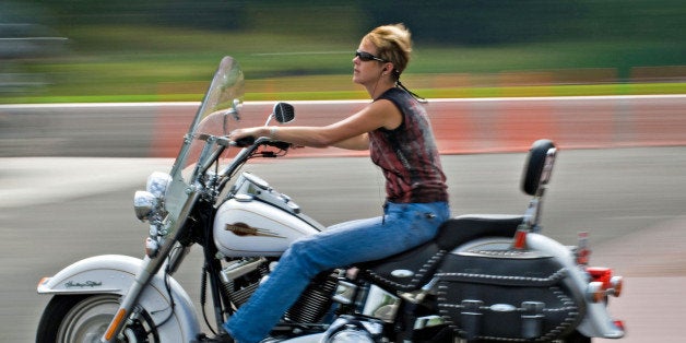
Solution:
M173 182L166 197L168 220L178 218L181 208L188 200L188 190L192 186L193 166L205 145L208 135L221 137L238 127L239 109L243 104L245 80L240 66L232 57L226 56L214 73L196 118L191 121L184 144L172 167ZM167 223L173 225L173 223Z

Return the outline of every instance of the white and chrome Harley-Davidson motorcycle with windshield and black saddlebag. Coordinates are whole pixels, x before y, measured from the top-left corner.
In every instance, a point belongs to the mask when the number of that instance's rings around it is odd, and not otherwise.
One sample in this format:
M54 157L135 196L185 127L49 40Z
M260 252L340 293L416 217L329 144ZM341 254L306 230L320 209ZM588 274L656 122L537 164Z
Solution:
M36 342L202 342L196 307L173 279L193 245L204 253L202 316L217 334L292 241L326 229L289 197L241 172L252 158L282 157L293 147L268 138L227 139L244 122L243 93L240 67L225 57L170 173L153 173L134 194L137 217L150 224L144 258L96 256L42 280L37 292L52 298ZM293 106L279 103L265 125L294 117ZM522 175L532 200L523 214L460 215L411 250L321 273L270 342L622 338L623 322L607 311L622 277L588 264L586 234L568 247L540 233L556 155L549 140L532 145Z

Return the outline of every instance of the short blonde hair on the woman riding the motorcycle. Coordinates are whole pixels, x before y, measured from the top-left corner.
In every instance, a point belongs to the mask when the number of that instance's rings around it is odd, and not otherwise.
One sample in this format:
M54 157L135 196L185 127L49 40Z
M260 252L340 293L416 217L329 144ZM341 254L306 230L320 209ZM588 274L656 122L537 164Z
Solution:
M391 24L379 26L363 37L377 48L377 56L393 63L395 80L407 68L412 52L412 35L405 25Z

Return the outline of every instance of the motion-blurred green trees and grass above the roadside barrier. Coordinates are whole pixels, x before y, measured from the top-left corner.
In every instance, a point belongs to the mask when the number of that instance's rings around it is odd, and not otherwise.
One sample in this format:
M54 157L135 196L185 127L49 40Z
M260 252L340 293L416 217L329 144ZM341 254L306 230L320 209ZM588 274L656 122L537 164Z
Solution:
M248 100L364 97L353 51L397 22L427 97L686 88L681 0L3 0L0 103L199 100L225 55Z

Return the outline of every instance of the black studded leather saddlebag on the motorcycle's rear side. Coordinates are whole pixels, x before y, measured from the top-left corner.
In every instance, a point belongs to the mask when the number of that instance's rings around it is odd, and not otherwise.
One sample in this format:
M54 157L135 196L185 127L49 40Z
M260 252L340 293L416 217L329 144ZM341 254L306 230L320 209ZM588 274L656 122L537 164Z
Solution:
M584 311L567 274L535 251L451 253L436 274L439 312L468 340L551 341L573 330Z

